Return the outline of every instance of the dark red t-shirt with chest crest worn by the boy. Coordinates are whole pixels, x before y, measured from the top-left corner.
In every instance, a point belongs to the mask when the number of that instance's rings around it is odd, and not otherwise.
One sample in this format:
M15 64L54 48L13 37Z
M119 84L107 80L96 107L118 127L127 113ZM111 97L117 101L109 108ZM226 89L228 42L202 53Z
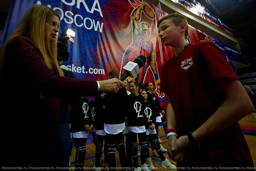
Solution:
M190 43L163 64L160 91L168 93L178 136L195 131L223 103L225 96L214 84L214 79L222 77L238 79L226 55L210 42ZM253 165L238 123L202 143L196 154L191 149L185 152L182 165Z

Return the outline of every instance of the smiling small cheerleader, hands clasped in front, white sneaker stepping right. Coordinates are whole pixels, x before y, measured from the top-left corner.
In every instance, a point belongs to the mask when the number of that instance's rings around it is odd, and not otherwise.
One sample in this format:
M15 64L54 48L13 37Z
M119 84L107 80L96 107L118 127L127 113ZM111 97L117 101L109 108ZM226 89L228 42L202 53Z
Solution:
M161 151L160 148L160 144L156 135L156 129L155 129L155 123L156 123L156 115L154 114L154 111L152 110L152 105L149 101L147 101L148 98L148 94L146 91L141 91L140 93L143 98L144 98L144 102L143 105L145 106L144 109L144 115L146 116L146 124L145 124L145 128L146 128L146 134L147 134L147 144L149 146L149 142L152 144L151 147L153 147L157 154L159 155L162 163L161 166L164 168L175 168L175 165L172 165L172 163L170 163L170 161L164 157L163 152ZM150 135L150 136L149 136ZM151 157L149 156L149 149L147 148L147 158L146 158L146 163L148 165L148 168L150 170L155 170L155 167L152 163Z

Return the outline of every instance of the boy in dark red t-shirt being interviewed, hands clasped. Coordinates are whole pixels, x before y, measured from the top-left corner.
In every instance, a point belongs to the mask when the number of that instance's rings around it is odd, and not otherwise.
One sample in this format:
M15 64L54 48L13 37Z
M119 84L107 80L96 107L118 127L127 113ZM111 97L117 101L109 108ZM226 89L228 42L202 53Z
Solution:
M177 167L253 167L237 121L253 110L226 55L210 42L188 43L188 22L180 14L163 17L159 37L174 57L161 71L168 155ZM177 132L176 132L177 130Z

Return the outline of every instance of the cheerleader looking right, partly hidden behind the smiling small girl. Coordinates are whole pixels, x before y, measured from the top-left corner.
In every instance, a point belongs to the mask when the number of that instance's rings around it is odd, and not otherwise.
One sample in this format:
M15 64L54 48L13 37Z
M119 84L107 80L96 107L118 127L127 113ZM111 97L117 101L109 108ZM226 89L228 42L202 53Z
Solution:
M158 137L159 123L161 123L162 120L161 120L161 114L159 113L157 100L156 100L156 98L154 97L154 95L152 94L153 88L154 88L154 87L153 87L153 84L152 84L152 83L150 83L150 82L145 83L145 91L147 91L147 94L148 94L148 99L147 99L147 101L150 101L150 102L151 102L152 107L153 107L152 109L154 110L154 112L155 112L155 114L156 114L156 134L157 134L157 138L158 138L158 141L159 141L159 137ZM159 103L159 106L160 106L160 103ZM162 111L162 112L164 112L164 111ZM167 152L167 150L164 149L164 147L163 147L162 145L160 145L160 147L161 147L161 151L162 151L162 152ZM157 152L156 152L156 150L154 149L154 147L151 146L151 148L152 148L152 154L153 154L154 156L159 157L158 154L157 154Z

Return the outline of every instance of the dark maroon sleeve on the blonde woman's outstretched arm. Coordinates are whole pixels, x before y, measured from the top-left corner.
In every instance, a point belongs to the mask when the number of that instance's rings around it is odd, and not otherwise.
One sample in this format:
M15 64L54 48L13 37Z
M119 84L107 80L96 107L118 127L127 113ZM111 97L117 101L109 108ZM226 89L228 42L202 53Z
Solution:
M60 97L63 94L79 97L98 95L97 81L62 77L56 74L44 63L40 50L29 39L22 37L24 36L15 37L11 47L20 48L18 61L22 71L41 92L53 97Z

